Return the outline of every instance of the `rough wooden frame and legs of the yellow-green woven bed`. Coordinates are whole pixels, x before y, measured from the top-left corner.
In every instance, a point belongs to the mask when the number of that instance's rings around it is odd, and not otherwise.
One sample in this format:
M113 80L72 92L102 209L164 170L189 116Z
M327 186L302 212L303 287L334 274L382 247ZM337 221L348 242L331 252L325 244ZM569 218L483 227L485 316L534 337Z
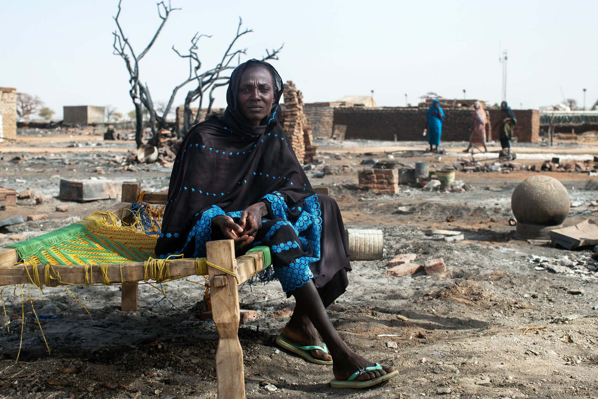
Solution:
M328 186L313 187L318 194L328 194ZM141 183L124 182L122 201L106 211L112 212L117 218L127 220L124 209L131 209L137 202L141 192ZM145 193L144 202L164 205L167 193ZM209 263L236 274L237 279L230 274L208 266L210 278L210 301L212 303L212 317L218 331L219 343L216 352L216 377L218 379L218 398L245 398L245 378L243 376L243 350L239 343L239 284L255 275L256 270L263 270L263 255L260 251L249 252L249 257L236 259L234 257L234 241L218 240L206 243L206 255ZM33 266L13 266L19 262L19 254L13 248L0 248L0 286L12 284L30 284L29 276L34 275ZM184 278L196 275L195 259L169 260L170 276ZM38 264L39 281L45 281L44 266ZM53 270L60 273L62 282L71 284L86 284L85 265L57 266ZM87 265L89 267L89 265ZM100 267L90 267L92 281L102 281ZM121 310L137 310L137 295L139 281L144 281L144 262L116 263L108 265L107 277L111 284L122 285Z

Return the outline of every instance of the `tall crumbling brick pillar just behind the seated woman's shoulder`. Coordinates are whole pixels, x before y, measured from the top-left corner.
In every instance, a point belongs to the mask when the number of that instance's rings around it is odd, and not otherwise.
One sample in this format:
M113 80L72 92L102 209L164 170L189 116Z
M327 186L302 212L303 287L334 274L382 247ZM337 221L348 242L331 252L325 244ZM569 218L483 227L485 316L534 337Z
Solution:
M285 110L282 111L282 129L291 141L300 163L311 163L318 146L313 144L312 128L303 113L303 95L292 81L285 83Z

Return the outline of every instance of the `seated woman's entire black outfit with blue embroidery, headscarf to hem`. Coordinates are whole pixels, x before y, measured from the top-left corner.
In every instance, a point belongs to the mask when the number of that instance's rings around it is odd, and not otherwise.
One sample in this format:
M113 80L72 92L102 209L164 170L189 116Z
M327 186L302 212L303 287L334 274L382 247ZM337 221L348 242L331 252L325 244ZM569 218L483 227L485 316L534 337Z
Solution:
M155 252L162 258L205 257L206 242L222 238L212 229L213 217L236 220L248 206L264 202L269 215L253 245L271 248L283 290L288 293L313 278L327 305L344 292L350 270L340 211L334 200L312 190L280 127L282 80L277 74L277 98L260 126L246 123L237 110L245 65L233 72L224 117L198 124L179 147Z

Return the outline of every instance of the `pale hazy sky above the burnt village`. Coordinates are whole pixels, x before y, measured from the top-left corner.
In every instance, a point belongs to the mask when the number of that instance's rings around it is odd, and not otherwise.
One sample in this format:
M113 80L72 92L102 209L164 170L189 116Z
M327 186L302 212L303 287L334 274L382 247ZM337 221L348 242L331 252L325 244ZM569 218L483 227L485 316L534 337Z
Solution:
M0 0L0 86L63 105L133 109L129 75L112 55L117 0ZM379 106L404 106L436 92L445 98L499 102L499 43L508 50L507 100L538 108L563 95L587 106L598 99L597 1L197 1L172 0L158 41L141 61L141 80L166 101L188 73L170 49L194 33L203 65L212 66L234 36L238 17L254 33L238 47L260 58L285 44L274 67L305 102L369 95ZM160 23L155 1L123 0L121 24L136 51ZM191 86L175 101L181 105ZM225 87L215 106L225 106Z

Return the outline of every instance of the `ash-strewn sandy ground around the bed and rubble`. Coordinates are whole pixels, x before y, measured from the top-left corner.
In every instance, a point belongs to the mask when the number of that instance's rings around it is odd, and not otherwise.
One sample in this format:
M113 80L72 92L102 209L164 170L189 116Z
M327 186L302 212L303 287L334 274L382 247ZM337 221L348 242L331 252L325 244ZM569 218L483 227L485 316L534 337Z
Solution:
M43 202L17 200L16 207L0 211L0 220L41 213L48 220L0 228L0 246L73 223L115 202L63 202L57 198L60 178L136 179L144 190L167 190L169 168L127 165L124 157L133 142L104 142L93 131L19 133L18 142L0 145L0 185L30 188ZM318 144L331 174L316 178L307 172L312 184L329 185L347 228L384 232L383 258L352 262L347 292L329 306L329 316L352 349L395 366L399 375L363 390L331 388L332 367L306 363L274 343L294 301L286 299L277 282L243 285L241 307L258 315L239 327L248 398L598 396L598 273L590 270L591 248L568 251L515 240L515 227L508 224L512 190L538 173L459 172L457 179L472 190L425 192L402 185L399 194L379 196L355 190L361 160L405 151L395 154L403 163L425 160L441 167L451 165L465 143L447 143L440 159L417 152L425 148L423 142ZM593 156L598 148L593 142L563 142L551 148L518 144L515 151L548 159L546 154ZM537 160L521 157L520 162ZM590 202L598 192L582 190L590 179L587 173L542 174L562 181L571 199L582 204L570 209L565 226L596 216L598 207ZM69 205L69 211L56 212L57 205ZM399 214L403 205L417 211ZM450 215L454 221L447 221ZM430 228L460 230L465 239L425 236L423 230ZM388 261L401 253L417 254L418 262L442 257L447 270L431 276L386 275ZM542 259L535 262L531 255ZM565 267L551 267L557 265ZM553 273L551 268L564 270ZM1 296L10 331L0 331L0 397L216 397L218 335L212 322L197 317L204 288L196 283L203 282L192 276L162 285L166 298L141 285L137 312L120 311L116 285L72 286L72 294L63 288L41 293L25 285L24 305L21 288L7 287ZM42 336L32 306L37 310L48 304L60 315L40 321ZM268 383L276 390L263 387Z

